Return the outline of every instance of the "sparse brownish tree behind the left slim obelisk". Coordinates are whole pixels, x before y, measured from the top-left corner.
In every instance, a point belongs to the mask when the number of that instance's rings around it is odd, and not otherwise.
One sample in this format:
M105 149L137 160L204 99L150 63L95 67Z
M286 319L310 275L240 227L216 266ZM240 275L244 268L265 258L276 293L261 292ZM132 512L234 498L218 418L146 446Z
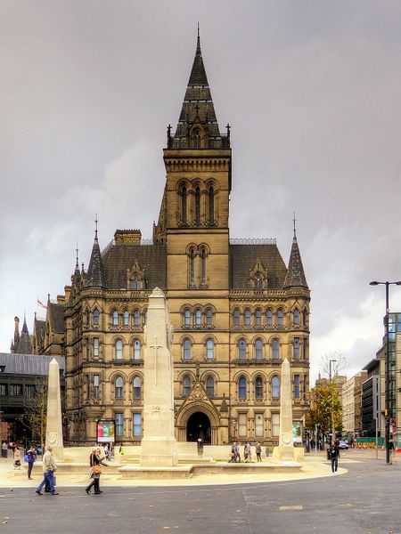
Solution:
M38 439L43 446L46 434L47 417L47 376L37 379L35 390L24 400L24 411L19 420L32 433L32 438Z

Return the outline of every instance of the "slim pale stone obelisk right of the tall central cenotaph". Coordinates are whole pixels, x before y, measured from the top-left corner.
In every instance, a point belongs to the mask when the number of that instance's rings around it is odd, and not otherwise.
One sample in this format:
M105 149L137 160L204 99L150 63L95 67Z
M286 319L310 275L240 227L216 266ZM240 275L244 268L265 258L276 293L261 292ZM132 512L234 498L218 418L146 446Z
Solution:
M289 360L282 362L282 387L280 392L280 437L279 446L274 448L274 458L280 461L294 461L292 439L292 396L291 368Z

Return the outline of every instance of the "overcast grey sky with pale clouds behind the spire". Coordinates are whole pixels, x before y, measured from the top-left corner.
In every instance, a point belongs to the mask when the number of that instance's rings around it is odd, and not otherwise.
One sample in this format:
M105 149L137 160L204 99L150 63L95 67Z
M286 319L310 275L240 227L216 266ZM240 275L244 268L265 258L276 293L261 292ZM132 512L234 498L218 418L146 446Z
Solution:
M232 238L276 238L296 212L312 292L311 376L381 345L401 279L401 3L0 0L0 352L87 266L94 214L151 238L196 46L232 125ZM401 287L390 288L401 312Z

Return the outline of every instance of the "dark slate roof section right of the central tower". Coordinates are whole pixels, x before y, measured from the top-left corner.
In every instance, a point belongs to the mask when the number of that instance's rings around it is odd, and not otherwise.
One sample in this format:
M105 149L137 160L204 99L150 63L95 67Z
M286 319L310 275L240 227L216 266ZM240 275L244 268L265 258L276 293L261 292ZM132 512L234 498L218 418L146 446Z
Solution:
M258 261L267 270L267 287L282 289L287 267L276 245L230 245L230 288L249 289L250 270Z

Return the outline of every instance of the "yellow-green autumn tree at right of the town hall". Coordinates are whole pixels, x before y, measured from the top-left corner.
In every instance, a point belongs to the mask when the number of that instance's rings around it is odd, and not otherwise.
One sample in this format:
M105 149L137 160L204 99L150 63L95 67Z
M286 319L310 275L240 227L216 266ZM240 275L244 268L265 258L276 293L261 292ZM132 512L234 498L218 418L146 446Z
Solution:
M316 426L321 433L331 432L331 417L336 432L342 430L342 406L334 382L323 382L312 390L311 409L305 417L308 430L314 432Z

